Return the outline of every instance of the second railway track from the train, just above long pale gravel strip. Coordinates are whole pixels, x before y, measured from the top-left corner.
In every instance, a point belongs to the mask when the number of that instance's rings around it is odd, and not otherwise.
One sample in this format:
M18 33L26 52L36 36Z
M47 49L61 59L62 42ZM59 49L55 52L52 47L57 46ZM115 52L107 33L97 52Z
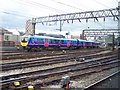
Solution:
M116 53L116 52L115 52ZM52 57L45 59L37 59L37 60L27 60L27 61L20 61L20 62L12 62L12 63L4 63L1 64L2 71L6 70L13 70L13 69L22 69L22 68L28 68L28 67L36 67L36 66L43 66L43 65L50 65L50 64L56 64L56 63L63 63L63 62L74 62L76 61L82 61L83 59L92 59L96 57L103 57L107 55L115 54L113 52L109 53L101 53L101 54L93 54L93 55L86 55L86 56L79 56L79 53L74 55L63 55L61 57Z

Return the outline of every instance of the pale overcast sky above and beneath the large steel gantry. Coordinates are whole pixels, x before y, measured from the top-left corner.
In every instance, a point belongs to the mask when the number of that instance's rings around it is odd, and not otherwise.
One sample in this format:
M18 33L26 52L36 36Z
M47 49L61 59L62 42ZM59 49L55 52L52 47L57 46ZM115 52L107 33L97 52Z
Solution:
M74 13L116 8L119 0L0 0L0 27L25 31L26 20L32 17L55 14ZM51 24L51 23L50 23ZM108 18L106 22L99 19L98 23L84 20L80 23L64 22L63 31L79 32L86 28L117 28L117 21ZM36 29L57 32L59 23L52 25L37 24Z

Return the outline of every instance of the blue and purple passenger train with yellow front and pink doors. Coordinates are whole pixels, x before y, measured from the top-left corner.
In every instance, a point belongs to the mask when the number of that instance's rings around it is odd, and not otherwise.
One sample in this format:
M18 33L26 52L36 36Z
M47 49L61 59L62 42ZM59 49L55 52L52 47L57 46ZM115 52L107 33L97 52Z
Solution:
M54 38L49 36L37 36L28 35L23 36L21 39L21 46L28 51L32 48L95 48L99 46L98 42L81 40L81 39L66 39L66 38Z

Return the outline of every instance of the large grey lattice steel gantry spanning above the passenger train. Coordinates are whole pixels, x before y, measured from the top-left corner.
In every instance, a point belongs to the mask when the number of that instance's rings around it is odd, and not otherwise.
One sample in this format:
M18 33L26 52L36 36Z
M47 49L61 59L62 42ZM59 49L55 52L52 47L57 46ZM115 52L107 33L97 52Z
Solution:
M35 25L36 23L47 23L47 22L57 22L57 21L69 21L69 20L79 20L86 19L94 19L98 21L98 18L105 18L106 17L114 17L119 21L119 8L112 8L112 9L104 9L104 10L97 10L97 11L86 11L86 12L78 12L78 13L68 13L68 14L60 14L60 15L51 15L45 17L37 17L32 18L31 20L31 27L32 32L35 34ZM61 28L61 25L60 25ZM61 30L61 29L60 29ZM26 30L29 31L29 30Z

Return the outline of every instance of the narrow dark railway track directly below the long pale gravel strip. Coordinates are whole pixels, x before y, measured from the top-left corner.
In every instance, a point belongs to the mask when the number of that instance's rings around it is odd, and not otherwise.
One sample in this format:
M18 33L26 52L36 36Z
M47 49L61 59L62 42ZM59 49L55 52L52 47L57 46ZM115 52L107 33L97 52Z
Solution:
M106 57L106 58L98 58L97 60L89 60L89 61L85 61L85 62L77 62L77 63L72 63L72 64L68 64L68 65L62 65L62 66L57 66L57 67L52 67L52 68L48 68L48 69L43 69L43 70L38 70L38 71L32 71L32 72L27 72L27 73L21 73L21 74L13 74L13 75L8 75L8 76L3 76L2 78L4 79L4 78L6 78L7 77L7 79L8 78L15 78L15 76L23 76L23 75L30 75L30 74L41 74L42 72L44 73L44 72L46 72L46 71L57 71L57 70L64 70L64 69L69 69L69 68L74 68L74 66L86 66L86 65L89 65L90 63L92 63L92 64L94 64L94 63L96 63L97 62L97 64L100 64L100 62L99 61L101 61L102 59L104 60L104 59L108 59L108 58L113 58L113 59L115 59L116 58L116 56L110 56L110 57ZM106 60L104 60L104 62L105 62ZM99 62L99 63L98 63ZM102 61L101 61L102 62ZM41 73L39 73L39 72L41 72Z

